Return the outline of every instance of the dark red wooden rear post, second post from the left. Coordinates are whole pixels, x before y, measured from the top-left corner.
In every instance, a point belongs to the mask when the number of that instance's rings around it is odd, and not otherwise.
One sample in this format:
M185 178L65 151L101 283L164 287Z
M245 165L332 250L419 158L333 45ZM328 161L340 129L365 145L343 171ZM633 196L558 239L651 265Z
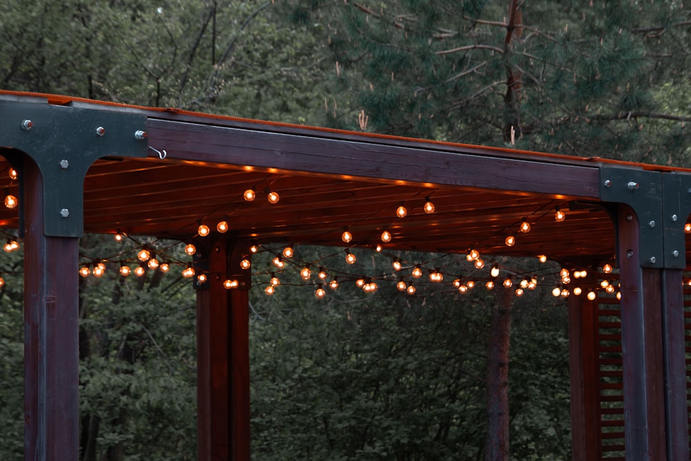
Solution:
M250 277L239 269L249 245L221 238L206 256L209 281L197 291L197 459L249 461ZM223 287L228 276L238 288Z

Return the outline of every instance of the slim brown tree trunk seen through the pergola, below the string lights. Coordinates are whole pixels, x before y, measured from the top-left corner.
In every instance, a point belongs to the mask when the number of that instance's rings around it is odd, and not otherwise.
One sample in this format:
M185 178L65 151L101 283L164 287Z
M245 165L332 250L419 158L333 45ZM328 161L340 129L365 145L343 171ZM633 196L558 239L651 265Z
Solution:
M498 287L487 356L486 461L509 460L509 339L513 290Z

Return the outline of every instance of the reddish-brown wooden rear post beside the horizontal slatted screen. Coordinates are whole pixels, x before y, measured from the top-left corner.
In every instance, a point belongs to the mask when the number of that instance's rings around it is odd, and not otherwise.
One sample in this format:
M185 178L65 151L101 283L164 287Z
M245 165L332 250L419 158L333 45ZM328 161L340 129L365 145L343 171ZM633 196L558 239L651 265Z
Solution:
M589 274L587 283L595 283ZM597 300L585 294L569 297L569 377L571 379L571 460L598 459L599 395L596 361Z

